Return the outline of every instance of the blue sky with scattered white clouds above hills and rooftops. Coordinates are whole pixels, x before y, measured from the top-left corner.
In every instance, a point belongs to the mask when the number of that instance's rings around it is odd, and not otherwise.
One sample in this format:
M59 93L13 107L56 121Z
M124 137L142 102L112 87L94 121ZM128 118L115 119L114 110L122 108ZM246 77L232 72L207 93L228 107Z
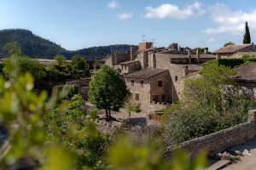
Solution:
M255 0L1 0L0 29L24 28L63 48L137 44L156 46L241 43L248 21L256 40Z

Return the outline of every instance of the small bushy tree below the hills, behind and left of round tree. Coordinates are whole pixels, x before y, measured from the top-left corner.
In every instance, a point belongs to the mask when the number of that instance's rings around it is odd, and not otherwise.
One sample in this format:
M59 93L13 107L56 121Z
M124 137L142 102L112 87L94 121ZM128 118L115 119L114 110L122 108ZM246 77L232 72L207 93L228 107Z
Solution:
M74 55L69 63L69 70L73 78L89 77L90 71L86 59L82 55Z

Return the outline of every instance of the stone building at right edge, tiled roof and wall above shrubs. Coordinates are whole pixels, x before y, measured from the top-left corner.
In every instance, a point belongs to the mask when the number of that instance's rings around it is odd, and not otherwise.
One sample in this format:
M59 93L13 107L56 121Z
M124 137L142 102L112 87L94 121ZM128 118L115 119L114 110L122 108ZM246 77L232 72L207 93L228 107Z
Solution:
M256 65L247 64L237 67L234 78L247 94L256 98Z

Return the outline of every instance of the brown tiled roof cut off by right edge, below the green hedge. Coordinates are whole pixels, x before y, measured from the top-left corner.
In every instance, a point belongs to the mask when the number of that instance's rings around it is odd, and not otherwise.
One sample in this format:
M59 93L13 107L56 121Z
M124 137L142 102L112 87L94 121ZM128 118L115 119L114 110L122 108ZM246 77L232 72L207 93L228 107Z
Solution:
M237 81L256 82L256 65L247 64L236 68Z

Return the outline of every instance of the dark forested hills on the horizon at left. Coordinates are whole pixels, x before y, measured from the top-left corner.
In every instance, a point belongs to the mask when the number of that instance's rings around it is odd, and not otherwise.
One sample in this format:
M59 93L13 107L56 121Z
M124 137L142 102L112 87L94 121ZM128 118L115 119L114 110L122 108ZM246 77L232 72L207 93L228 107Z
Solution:
M32 31L22 29L9 29L0 31L0 58L8 55L3 49L4 44L9 42L18 42L20 48L26 56L41 59L53 59L56 54L62 54L71 59L75 54L81 54L86 59L95 59L96 57L104 57L112 52L125 53L130 50L130 45L110 45L102 47L84 48L75 51L70 51L61 48L55 42L50 42L47 39L34 35Z

